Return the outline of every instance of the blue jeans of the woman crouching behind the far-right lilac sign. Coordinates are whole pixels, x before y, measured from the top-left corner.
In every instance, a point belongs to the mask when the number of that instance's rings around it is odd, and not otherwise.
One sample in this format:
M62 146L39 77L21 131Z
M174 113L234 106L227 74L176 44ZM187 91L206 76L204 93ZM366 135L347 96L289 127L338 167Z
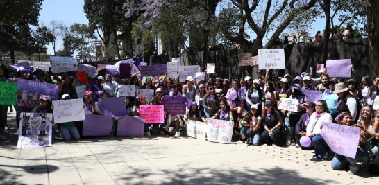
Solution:
M336 154L332 159L333 170L342 170L348 166L357 166L357 162L368 162L370 157L367 152L364 152L363 148L357 148L357 154L355 159L351 157L346 157L343 155Z

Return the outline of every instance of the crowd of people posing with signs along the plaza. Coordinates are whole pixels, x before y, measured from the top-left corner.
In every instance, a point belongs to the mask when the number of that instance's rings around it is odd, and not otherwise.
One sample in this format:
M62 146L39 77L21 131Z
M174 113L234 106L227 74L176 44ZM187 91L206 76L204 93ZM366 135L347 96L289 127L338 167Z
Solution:
M205 71L206 73L206 71ZM125 116L139 116L140 105L163 105L163 96L184 96L187 114L165 113L165 123L145 124L145 134L169 134L179 137L185 133L187 120L206 122L208 119L233 121L233 141L243 141L248 146L296 146L302 150L314 150L314 159L332 158L335 170L357 173L358 164L369 165L371 172L379 172L379 76L360 79L330 78L326 70L321 76L301 73L299 76L270 76L270 71L258 74L258 78L244 76L241 79L220 77L199 81L187 76L185 82L178 78L142 78L140 74L121 79L119 73L98 73L90 78L83 94L85 114L104 114L99 109L99 99L119 97L118 85L135 85L137 89L153 89L154 96L125 97ZM36 80L59 86L59 100L78 98L75 87L83 85L75 76L63 73L53 76L37 69L22 69L15 76L8 76L6 66L0 66L0 80L15 82L17 79ZM373 79L373 80L371 80ZM308 101L304 90L322 91L322 98ZM281 98L296 99L297 112L278 109ZM21 112L53 113L51 97L42 95L36 107L15 106L17 118ZM5 139L8 105L0 105L1 139ZM117 121L117 118L115 118ZM18 119L17 119L18 122ZM322 123L335 123L360 128L360 144L355 158L334 154L321 135ZM81 125L82 124L82 125ZM80 139L83 123L60 123L58 130L63 139ZM301 146L302 136L311 139L310 146Z

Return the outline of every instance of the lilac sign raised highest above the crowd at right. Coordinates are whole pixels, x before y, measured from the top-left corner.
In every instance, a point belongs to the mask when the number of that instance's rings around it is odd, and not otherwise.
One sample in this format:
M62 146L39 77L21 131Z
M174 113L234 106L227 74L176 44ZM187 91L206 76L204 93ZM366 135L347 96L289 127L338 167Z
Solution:
M326 73L328 73L330 77L350 78L350 64L350 59L326 60Z

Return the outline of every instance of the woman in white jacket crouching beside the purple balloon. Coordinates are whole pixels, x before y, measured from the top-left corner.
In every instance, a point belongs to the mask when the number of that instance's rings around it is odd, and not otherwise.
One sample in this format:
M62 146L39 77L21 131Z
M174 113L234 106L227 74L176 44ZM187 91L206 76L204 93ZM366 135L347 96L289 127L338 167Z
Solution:
M330 150L328 144L321 136L322 123L332 123L332 116L327 112L326 101L318 100L316 103L316 112L310 116L310 121L307 125L306 136L309 136L314 147L314 153L317 159L321 160L326 152Z

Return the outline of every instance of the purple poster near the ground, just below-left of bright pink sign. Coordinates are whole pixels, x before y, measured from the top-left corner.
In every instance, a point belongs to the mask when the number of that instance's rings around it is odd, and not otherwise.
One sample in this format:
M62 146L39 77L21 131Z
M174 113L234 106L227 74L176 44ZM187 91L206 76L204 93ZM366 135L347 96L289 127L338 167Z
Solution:
M117 136L144 136L144 122L140 117L119 117Z

